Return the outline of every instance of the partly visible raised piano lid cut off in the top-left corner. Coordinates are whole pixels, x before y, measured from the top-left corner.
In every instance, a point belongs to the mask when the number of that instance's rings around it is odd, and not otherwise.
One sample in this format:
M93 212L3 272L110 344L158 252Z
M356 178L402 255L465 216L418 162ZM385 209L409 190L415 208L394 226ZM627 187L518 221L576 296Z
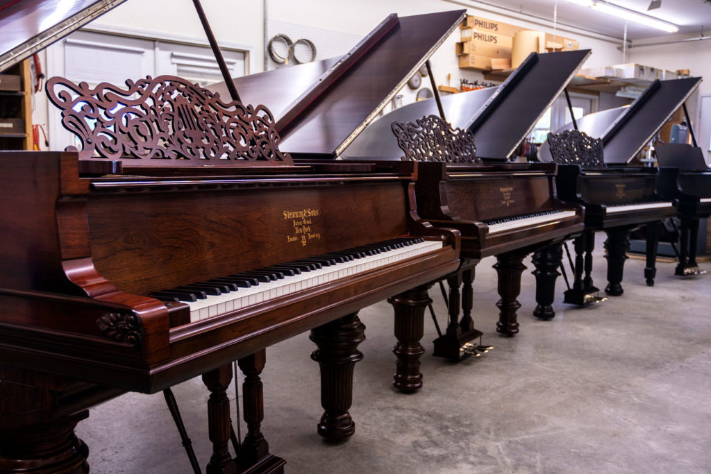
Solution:
M126 0L17 0L0 6L0 71ZM1 3L0 3L1 5Z

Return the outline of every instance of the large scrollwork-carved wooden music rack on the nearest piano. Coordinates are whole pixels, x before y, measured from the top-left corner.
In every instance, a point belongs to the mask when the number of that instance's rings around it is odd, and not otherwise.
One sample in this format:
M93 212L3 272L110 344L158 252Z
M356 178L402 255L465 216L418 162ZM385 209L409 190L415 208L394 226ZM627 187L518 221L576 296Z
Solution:
M181 166L292 164L291 156L279 151L267 107L225 103L180 77L129 79L125 88L107 82L92 88L52 77L46 88L50 101L62 109L63 126L81 142L80 158L98 154L153 166L163 160Z

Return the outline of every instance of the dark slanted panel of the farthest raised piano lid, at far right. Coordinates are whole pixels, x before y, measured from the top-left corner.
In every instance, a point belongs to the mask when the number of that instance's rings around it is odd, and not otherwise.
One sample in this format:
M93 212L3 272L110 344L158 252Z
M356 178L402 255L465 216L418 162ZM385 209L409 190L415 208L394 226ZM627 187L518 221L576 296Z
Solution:
M629 163L700 83L701 77L652 82L602 134L605 163Z

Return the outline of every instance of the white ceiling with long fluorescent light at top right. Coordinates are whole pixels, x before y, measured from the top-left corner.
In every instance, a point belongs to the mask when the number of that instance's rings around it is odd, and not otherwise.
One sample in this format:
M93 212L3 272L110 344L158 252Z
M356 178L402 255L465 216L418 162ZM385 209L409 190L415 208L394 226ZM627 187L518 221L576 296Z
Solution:
M647 8L651 0L608 0L611 4L654 16L674 23L678 33L665 33L638 23L628 23L627 39L637 41L647 38L665 38L682 33L699 35L702 31L711 34L711 0L662 0L661 7L651 11ZM476 3L476 1L475 1ZM553 7L557 3L557 20L571 26L601 33L614 38L623 38L625 21L584 6L564 0L496 0L482 1L491 6L515 10L540 18L553 19ZM707 33L705 33L707 36Z

